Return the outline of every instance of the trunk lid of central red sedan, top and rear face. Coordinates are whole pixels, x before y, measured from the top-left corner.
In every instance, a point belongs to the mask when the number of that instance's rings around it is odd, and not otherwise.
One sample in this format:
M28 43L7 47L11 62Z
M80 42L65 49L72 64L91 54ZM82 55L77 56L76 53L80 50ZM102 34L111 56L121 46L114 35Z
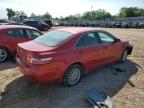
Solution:
M44 46L33 41L19 43L17 47L17 56L26 65L30 65L33 57L41 57L42 53L49 53L53 47Z

